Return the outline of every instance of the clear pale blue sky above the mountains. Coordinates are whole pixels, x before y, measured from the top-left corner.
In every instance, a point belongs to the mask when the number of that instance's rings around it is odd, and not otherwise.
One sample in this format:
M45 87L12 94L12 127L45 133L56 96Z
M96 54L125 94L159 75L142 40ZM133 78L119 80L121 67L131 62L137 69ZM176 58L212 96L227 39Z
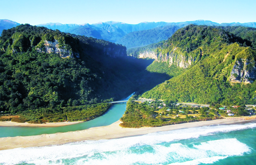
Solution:
M256 22L256 0L0 0L0 4L0 19L31 25L198 19L217 23Z

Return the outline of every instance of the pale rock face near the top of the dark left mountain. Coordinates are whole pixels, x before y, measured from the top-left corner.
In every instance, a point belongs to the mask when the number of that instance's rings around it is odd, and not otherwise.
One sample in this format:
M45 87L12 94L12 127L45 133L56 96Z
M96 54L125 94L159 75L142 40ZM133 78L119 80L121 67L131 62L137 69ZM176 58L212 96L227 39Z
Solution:
M79 53L73 52L69 45L60 46L58 40L54 42L44 40L44 48L36 48L38 52L57 53L61 58L79 58Z

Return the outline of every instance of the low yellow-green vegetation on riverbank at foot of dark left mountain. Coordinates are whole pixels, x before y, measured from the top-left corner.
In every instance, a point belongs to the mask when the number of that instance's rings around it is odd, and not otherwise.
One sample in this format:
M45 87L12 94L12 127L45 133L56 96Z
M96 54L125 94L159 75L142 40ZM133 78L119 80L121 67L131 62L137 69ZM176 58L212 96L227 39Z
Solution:
M0 121L45 123L63 121L88 121L104 114L111 103L68 106L63 108L39 108L18 112L16 116L2 116Z

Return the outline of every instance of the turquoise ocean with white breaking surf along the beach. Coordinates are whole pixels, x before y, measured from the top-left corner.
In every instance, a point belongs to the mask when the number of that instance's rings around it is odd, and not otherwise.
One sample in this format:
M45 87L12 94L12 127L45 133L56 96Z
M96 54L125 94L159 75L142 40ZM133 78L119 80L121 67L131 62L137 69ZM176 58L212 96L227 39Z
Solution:
M0 165L256 164L256 123L0 151Z

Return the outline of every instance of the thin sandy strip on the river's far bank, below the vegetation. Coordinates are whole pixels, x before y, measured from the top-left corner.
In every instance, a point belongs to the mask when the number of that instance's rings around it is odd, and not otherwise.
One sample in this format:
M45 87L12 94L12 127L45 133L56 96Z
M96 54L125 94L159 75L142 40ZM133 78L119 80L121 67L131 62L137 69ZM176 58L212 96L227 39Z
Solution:
M10 127L10 126L23 126L23 127L60 127L68 126L73 124L78 124L84 121L71 121L71 122L46 122L43 124L32 124L28 122L13 122L13 121L0 121L0 127Z

